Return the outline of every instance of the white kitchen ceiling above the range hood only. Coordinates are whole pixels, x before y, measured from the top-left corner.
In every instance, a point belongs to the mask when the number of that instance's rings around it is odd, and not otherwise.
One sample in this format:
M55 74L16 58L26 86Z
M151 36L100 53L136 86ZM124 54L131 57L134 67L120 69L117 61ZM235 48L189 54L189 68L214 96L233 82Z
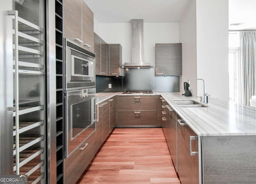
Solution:
M180 22L190 0L84 0L99 23Z

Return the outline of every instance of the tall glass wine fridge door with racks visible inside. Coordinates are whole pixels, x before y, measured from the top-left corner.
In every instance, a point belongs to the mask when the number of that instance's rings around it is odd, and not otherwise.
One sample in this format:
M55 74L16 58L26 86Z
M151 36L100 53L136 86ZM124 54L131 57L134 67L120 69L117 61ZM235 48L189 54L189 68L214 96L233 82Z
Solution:
M13 174L46 183L45 1L15 0L13 11Z

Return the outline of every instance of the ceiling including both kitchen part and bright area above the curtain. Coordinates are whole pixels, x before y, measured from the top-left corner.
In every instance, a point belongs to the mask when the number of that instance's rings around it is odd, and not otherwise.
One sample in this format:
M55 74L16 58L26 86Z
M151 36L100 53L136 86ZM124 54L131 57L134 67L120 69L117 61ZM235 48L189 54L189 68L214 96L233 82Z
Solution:
M190 0L84 0L99 23L180 22ZM256 30L256 0L229 0L229 30Z

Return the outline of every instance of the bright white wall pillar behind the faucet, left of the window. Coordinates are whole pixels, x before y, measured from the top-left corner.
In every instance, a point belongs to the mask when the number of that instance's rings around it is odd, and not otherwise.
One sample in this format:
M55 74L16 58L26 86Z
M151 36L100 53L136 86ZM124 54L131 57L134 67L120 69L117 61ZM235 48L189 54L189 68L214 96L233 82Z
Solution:
M206 81L212 98L229 100L228 0L196 0L196 43L197 78Z

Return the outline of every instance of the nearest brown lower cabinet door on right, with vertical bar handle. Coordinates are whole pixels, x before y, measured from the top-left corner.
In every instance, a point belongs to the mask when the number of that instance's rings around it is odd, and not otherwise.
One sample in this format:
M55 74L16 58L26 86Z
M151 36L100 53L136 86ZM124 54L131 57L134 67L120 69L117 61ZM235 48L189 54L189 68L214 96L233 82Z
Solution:
M198 152L198 140L190 140L190 136L197 137L194 131L177 114L178 135L178 174L182 184L199 183L198 154L190 155L190 144L193 152Z

